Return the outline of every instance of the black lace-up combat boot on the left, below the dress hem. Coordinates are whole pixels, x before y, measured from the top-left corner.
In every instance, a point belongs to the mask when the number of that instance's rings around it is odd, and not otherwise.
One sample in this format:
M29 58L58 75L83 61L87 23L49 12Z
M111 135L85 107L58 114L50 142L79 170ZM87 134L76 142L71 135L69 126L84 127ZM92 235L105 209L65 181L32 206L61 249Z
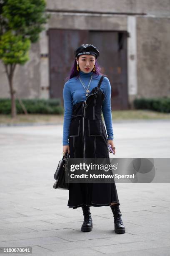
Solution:
M82 224L81 231L83 232L92 231L92 218L90 213L90 207L87 205L83 205L82 211L84 215L84 222Z

